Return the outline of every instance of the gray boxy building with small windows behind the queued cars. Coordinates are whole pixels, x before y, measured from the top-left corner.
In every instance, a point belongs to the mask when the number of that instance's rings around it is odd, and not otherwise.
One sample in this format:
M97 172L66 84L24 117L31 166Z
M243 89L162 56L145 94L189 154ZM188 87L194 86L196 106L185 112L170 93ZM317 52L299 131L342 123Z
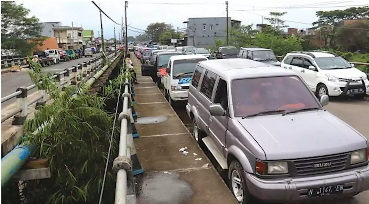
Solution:
M187 46L205 47L215 44L219 39L225 42L227 37L227 17L189 18L187 23ZM228 27L238 28L241 21L228 17Z

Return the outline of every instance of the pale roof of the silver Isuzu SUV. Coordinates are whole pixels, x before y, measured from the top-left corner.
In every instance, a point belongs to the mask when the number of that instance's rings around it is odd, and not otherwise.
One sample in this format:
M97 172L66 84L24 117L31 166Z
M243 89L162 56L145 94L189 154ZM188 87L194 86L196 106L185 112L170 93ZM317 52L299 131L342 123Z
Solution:
M297 76L293 71L242 58L201 61L200 66L229 80L270 76Z

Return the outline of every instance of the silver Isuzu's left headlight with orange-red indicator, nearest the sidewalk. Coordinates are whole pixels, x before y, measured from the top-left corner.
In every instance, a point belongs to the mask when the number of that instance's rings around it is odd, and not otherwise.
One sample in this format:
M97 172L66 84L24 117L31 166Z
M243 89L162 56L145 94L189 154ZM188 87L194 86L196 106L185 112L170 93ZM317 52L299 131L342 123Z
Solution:
M256 172L261 175L276 175L288 173L287 162L263 162L256 160Z

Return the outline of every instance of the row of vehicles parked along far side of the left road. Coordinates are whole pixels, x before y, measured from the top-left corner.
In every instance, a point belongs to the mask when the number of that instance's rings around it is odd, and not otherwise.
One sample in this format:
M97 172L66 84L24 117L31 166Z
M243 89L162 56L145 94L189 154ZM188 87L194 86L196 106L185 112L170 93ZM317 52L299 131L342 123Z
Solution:
M47 49L44 51L35 51L32 56L32 61L39 63L42 67L51 64L59 64L60 62L66 62L69 60L75 60L85 57L93 57L93 51L91 48L86 48L85 50L75 49L75 50L56 50ZM27 60L27 64L30 65Z

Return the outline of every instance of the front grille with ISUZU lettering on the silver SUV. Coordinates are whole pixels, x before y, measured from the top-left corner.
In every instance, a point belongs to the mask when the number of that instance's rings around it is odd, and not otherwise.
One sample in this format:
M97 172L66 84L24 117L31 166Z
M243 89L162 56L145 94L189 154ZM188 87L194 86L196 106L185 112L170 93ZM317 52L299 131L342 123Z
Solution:
M297 175L312 175L345 169L350 153L293 160ZM320 167L315 167L320 165Z

